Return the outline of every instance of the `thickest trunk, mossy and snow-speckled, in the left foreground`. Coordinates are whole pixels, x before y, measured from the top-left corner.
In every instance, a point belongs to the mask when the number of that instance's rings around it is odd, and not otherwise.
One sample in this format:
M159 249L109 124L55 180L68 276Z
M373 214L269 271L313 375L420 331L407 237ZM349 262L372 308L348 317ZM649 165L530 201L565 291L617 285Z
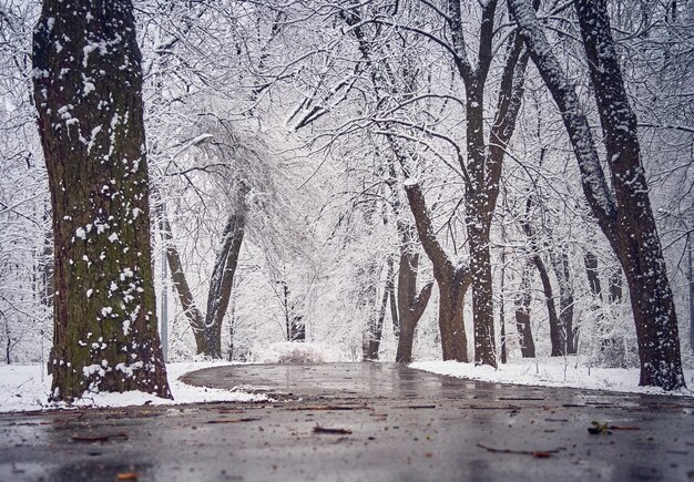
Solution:
M55 257L51 400L171 398L157 327L142 73L127 0L45 0L34 102Z

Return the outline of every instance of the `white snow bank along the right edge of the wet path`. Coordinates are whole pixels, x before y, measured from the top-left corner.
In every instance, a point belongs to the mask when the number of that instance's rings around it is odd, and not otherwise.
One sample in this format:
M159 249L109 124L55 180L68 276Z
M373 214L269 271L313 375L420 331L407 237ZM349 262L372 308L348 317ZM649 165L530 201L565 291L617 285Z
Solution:
M476 367L458 361L417 361L411 368L439 375L497 383L528 384L538 387L583 388L651 394L676 394L694 397L694 370L685 370L688 389L665 392L657 388L639 387L639 369L589 368L576 357L555 357L511 360L499 365Z

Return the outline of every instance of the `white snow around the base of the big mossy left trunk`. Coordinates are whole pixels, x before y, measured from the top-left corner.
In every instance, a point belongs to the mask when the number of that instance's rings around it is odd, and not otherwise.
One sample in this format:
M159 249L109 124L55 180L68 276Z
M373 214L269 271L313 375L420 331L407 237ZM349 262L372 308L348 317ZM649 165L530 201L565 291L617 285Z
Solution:
M124 393L89 393L73 407L131 407L143 404L180 404L212 401L253 402L267 400L266 396L244 391L192 387L178 380L185 373L210 367L232 365L228 362L166 363L169 383L174 400L166 400L139 391ZM65 404L49 404L51 377L40 365L0 366L0 412L65 408Z

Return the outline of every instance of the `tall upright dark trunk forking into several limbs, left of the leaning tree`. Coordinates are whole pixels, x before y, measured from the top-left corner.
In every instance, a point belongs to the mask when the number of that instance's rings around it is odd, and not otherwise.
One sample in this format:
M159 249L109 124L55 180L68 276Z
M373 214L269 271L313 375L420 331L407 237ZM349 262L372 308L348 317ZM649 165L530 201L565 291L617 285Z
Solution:
M494 349L494 319L492 298L491 256L489 233L499 195L501 166L506 146L513 135L516 119L523 92L528 53L523 41L512 33L506 43L506 59L499 86L497 112L484 137L488 122L484 115L484 86L494 57L494 19L497 0L480 3L481 28L477 63L469 62L469 48L465 39L463 16L460 0L448 2L448 28L450 29L453 61L466 89L466 143L467 162L459 158L466 174L466 227L472 277L472 312L474 328L474 362L497 366Z

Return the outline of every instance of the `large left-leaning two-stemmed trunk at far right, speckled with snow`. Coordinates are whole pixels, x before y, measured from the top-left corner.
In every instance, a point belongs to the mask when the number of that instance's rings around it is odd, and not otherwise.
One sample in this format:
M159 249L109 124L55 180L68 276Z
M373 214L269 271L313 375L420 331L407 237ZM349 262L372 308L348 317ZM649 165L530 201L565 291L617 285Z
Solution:
M624 270L641 361L642 386L685 386L675 306L631 109L604 0L574 0L611 173L604 176L590 125L528 0L510 0L531 57L557 102L582 174L583 191Z

